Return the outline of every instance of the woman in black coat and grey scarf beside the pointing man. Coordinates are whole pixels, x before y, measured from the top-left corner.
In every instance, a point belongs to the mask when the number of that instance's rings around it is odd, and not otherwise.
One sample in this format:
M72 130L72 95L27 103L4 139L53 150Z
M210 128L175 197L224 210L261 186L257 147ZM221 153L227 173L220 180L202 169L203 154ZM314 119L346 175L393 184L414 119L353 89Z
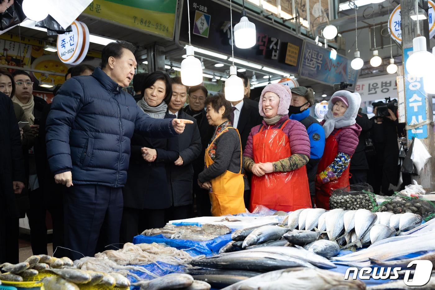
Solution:
M172 118L167 113L171 100L171 79L155 71L144 79L144 96L137 102L139 108L153 118ZM131 138L130 166L125 184L124 212L121 222L121 243L144 229L165 225L165 209L171 207L169 170L178 159L178 137L152 139L135 131Z

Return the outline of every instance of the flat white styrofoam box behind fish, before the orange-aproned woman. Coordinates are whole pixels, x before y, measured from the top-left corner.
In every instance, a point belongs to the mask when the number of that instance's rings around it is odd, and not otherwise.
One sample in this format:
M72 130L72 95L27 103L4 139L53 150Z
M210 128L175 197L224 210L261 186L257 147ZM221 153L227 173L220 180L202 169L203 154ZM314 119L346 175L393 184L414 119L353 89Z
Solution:
M229 220L237 219L239 222L222 221L228 218ZM200 216L191 219L171 220L169 224L176 226L202 226L205 223L212 225L225 225L231 229L245 229L251 226L262 226L268 223L281 223L284 216Z

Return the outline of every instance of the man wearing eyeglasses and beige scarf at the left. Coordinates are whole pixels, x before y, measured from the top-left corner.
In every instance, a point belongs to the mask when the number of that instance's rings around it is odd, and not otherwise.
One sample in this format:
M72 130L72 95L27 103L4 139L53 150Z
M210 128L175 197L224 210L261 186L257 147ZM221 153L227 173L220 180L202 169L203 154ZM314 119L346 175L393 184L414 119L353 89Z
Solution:
M43 189L37 172L44 164L39 138L39 120L47 102L40 97L33 96L33 82L26 71L17 70L12 74L15 81L15 95L12 101L23 108L24 116L29 122L35 145L29 149L29 201L30 210L27 212L30 226L30 240L33 254L47 254L47 227L45 225L46 206L44 206ZM42 182L42 181L41 181Z

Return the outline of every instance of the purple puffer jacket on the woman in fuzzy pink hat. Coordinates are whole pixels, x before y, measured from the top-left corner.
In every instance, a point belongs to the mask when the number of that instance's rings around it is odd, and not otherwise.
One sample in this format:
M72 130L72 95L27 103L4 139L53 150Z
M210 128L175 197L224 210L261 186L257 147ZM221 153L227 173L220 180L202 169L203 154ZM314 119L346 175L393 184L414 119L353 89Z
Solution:
M288 116L282 117L278 123L275 125L271 125L270 129L278 128L284 121L288 120ZM269 125L263 121L263 125L265 128L268 128ZM248 142L246 143L246 147L243 152L243 156L250 157L254 159L253 146L252 146L252 137L258 133L260 130L260 126L255 126L251 129L251 133L248 136ZM290 149L291 154L304 154L310 157L310 138L308 138L307 129L305 129L304 125L295 120L290 120L288 123L282 128L284 134L288 136L288 140L290 141ZM277 160L275 160L277 161Z

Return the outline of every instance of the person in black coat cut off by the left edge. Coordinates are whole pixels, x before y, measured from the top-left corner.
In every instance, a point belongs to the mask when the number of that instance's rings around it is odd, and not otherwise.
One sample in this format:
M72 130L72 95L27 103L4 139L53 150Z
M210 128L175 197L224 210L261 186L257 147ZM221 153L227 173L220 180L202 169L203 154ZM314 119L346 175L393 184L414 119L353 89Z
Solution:
M24 159L12 101L1 92L0 124L0 263L17 263L18 236L9 233L18 228L15 194L24 188Z

